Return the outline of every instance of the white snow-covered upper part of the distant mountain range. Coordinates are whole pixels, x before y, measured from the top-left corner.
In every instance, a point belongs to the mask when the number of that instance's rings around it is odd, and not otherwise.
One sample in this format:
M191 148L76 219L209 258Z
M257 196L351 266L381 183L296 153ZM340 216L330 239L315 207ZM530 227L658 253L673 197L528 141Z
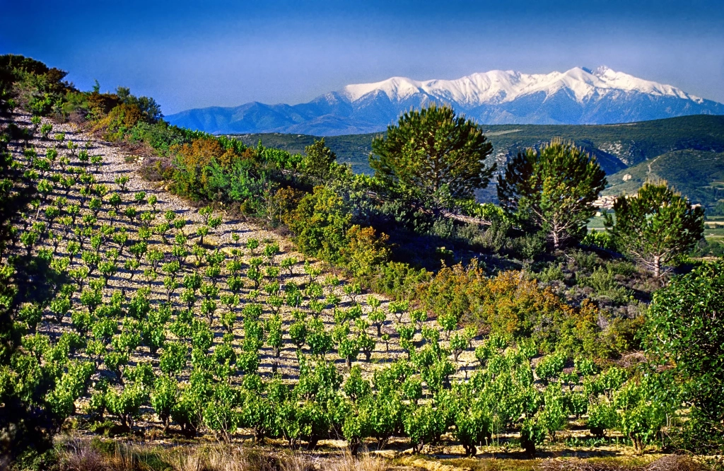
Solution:
M603 96L616 93L632 92L701 102L699 97L690 96L679 88L636 78L624 72L616 72L605 65L595 70L574 67L565 72L549 74L491 70L455 80L417 81L405 77L392 77L376 83L348 85L340 91L340 94L352 103L371 93L384 93L390 101L398 103L420 93L432 100L481 106L505 103L536 93L552 96L560 91L568 91L578 103L601 99Z

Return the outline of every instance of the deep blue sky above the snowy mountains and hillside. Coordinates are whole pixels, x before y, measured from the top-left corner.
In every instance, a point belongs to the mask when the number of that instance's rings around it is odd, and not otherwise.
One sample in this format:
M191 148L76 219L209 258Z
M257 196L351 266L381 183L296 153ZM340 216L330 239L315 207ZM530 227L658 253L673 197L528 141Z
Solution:
M597 67L724 102L724 1L14 1L0 53L165 114L348 83Z

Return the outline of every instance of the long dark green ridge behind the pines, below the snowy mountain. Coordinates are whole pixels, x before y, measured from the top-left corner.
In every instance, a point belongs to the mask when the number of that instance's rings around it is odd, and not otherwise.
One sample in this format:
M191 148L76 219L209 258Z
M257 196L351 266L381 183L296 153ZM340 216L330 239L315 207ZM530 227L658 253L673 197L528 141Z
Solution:
M694 194L701 195L702 202L712 201L712 198L717 198L717 194L720 194L702 189L694 191L694 188L710 184L707 170L692 170L691 173L682 170L676 175L673 175L672 170L676 167L687 168L690 164L687 159L699 159L724 152L724 116L687 116L620 125L490 125L484 126L484 129L493 144L494 157L501 164L518 151L539 146L551 138L573 141L594 154L607 174L611 175L609 180L613 186L607 190L607 194L615 191L636 191L631 189L635 186L633 180L627 182L626 186L618 183L622 182L621 178L626 175L626 172L622 171L632 167L631 171L636 169L636 175L639 175L640 168L647 169L646 162L664 155L668 157L663 158L660 164L667 167L660 170L660 178L670 180L687 195L691 192L692 199ZM337 153L340 162L349 163L355 172L370 173L368 157L372 139L377 135L329 136L326 142L327 146ZM314 139L319 139L316 136L281 133L244 134L235 137L248 145L256 145L261 139L264 146L277 147L292 153L303 152L305 146L313 143ZM686 154L677 151L696 152ZM681 161L678 165L675 163L677 159ZM710 161L704 159L701 162L706 167L706 162ZM710 170L714 172L712 175L715 175L719 164L712 165ZM652 168L659 167L654 165ZM494 199L494 192L491 188L479 196L482 199Z

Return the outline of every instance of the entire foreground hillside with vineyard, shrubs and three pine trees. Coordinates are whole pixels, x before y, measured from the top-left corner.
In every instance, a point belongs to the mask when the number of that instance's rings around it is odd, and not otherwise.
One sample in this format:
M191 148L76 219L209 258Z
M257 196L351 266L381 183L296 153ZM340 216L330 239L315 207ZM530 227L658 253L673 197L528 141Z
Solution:
M720 466L724 262L689 257L704 214L666 184L588 233L597 159L496 169L447 107L368 176L0 67L3 466Z

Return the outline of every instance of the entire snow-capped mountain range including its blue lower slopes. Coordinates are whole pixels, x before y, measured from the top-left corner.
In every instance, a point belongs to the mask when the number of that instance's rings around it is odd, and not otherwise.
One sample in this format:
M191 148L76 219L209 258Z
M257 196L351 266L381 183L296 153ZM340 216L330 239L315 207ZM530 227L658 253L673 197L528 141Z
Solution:
M432 102L450 104L481 124L607 124L724 114L724 104L670 85L608 67L575 67L550 74L491 70L456 80L393 77L348 85L304 104L190 109L167 120L209 133L334 136L384 130L408 109Z

